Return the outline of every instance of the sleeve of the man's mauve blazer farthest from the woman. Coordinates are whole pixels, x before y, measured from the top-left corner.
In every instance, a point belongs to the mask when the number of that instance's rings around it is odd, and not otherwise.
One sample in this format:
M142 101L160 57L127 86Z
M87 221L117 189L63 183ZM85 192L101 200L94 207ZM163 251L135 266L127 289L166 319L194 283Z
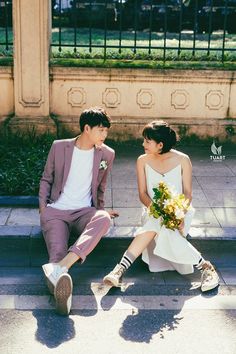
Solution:
M46 165L44 167L43 175L39 185L39 207L47 205L50 195L52 184L54 181L55 173L55 144L53 143L48 153Z

